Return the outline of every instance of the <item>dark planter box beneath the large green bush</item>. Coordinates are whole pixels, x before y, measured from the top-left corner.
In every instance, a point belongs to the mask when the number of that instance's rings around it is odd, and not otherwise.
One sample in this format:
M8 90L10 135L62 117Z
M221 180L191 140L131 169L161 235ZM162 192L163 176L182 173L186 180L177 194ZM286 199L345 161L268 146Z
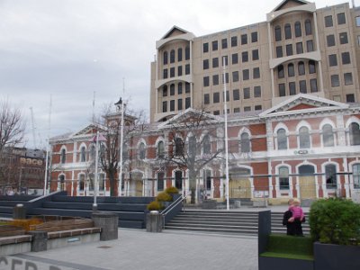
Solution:
M316 270L360 269L360 247L314 243Z

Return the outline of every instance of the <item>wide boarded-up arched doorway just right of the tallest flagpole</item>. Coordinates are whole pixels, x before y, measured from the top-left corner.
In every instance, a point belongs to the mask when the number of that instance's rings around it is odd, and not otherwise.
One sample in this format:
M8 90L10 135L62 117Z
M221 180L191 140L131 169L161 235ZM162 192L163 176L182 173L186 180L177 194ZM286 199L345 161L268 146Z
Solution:
M251 171L245 167L233 167L229 170L229 198L251 198Z

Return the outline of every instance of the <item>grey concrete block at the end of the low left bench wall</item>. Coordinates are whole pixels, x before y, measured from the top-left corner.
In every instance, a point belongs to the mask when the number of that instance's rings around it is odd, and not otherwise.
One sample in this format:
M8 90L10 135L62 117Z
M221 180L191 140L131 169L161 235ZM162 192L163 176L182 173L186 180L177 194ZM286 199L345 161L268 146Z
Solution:
M91 219L94 221L94 227L101 228L100 240L107 241L119 238L118 224L119 216L112 212L95 211Z

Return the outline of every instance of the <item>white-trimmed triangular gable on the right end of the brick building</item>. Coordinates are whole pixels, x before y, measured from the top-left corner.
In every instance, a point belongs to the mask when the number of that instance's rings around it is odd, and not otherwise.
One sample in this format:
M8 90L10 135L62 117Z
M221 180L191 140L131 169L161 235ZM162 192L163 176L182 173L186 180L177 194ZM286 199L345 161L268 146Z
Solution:
M278 103L274 107L261 112L260 117L270 117L281 114L290 114L295 112L314 112L329 111L335 109L347 109L349 104L338 103L320 96L311 94L296 94L286 99L282 103Z

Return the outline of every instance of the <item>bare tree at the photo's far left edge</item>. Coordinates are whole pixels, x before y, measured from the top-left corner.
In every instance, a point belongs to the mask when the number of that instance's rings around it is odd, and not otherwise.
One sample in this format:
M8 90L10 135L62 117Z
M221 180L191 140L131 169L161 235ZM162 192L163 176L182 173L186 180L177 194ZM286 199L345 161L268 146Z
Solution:
M0 100L0 184L14 184L17 166L14 147L23 142L25 124L20 109L7 100ZM15 179L16 178L16 179Z

